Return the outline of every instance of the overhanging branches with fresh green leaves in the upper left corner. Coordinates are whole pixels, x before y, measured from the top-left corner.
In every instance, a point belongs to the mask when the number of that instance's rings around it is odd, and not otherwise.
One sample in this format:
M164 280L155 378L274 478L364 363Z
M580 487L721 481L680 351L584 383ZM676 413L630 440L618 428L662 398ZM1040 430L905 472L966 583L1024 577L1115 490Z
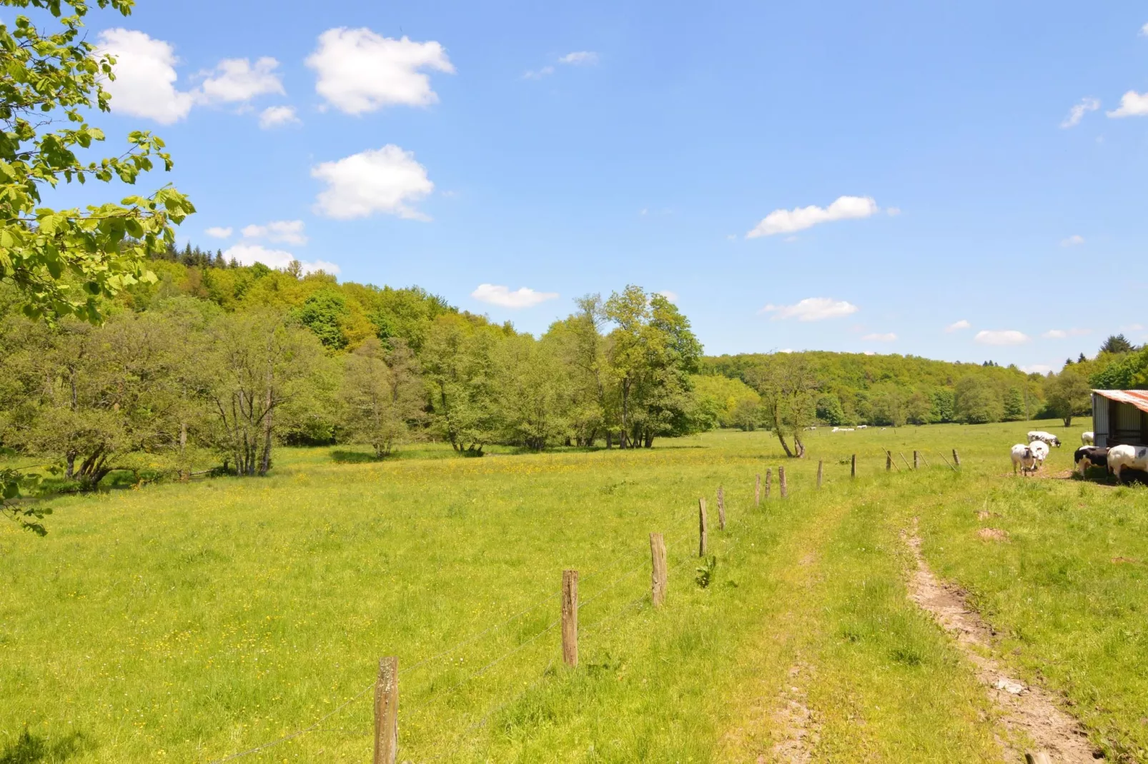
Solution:
M104 140L85 120L92 109L109 110L102 80L115 78L115 60L99 54L82 33L88 5L83 0L0 0L6 7L37 8L59 28L41 31L23 15L0 24L0 281L14 284L31 318L76 315L101 319L99 298L138 281L150 252L174 242L171 224L194 212L174 188L129 196L121 204L79 209L41 206L45 187L87 180L132 185L156 161L171 170L163 141L132 132L126 153L83 162L77 150ZM123 15L131 0L96 0ZM70 14L65 9L70 8ZM67 120L68 126L45 130Z

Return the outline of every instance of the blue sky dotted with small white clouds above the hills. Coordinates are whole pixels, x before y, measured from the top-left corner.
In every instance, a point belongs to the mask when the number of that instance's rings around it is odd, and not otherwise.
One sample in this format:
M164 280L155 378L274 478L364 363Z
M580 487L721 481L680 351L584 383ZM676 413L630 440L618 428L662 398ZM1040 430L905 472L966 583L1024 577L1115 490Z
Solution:
M90 26L121 57L99 123L168 141L200 245L536 333L638 283L711 353L1040 369L1148 338L1143 3L140 0Z

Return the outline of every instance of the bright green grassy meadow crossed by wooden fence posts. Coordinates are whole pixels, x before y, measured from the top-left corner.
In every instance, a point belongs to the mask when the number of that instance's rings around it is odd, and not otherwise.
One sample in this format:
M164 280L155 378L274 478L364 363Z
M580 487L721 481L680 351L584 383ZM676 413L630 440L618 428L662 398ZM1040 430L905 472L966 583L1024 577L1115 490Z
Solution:
M45 539L0 527L0 763L205 763L319 719L233 761L366 762L381 655L400 657L401 761L770 761L794 693L815 761L1000 761L1009 733L906 597L913 517L998 657L1063 693L1109 759L1148 759L1148 491L1014 478L1032 427L819 430L801 461L765 432L482 459L285 450L265 480L61 499ZM1046 470L1083 429L1053 429ZM886 473L884 447L930 466ZM672 568L658 610L650 531ZM581 572L576 670L554 627L564 568Z

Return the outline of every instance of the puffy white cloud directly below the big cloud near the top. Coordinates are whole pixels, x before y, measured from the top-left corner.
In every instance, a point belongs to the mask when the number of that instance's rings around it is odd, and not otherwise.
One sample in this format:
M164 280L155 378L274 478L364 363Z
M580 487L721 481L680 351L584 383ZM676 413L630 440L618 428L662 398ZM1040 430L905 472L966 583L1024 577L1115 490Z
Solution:
M394 143L324 162L311 167L311 177L327 184L316 200L316 211L328 218L350 220L383 212L412 220L430 219L409 202L426 197L434 184L414 155Z

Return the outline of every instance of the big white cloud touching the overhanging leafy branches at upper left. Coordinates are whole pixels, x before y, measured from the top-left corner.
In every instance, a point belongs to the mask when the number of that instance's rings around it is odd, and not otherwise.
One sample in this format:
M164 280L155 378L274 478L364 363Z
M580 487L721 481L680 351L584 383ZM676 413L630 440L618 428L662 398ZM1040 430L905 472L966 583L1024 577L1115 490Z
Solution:
M179 122L192 110L194 96L176 89L176 49L127 29L100 32L99 53L116 59L116 79L104 83L111 110L155 119L161 125Z

